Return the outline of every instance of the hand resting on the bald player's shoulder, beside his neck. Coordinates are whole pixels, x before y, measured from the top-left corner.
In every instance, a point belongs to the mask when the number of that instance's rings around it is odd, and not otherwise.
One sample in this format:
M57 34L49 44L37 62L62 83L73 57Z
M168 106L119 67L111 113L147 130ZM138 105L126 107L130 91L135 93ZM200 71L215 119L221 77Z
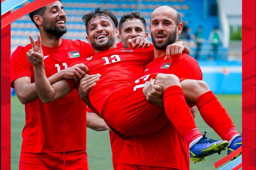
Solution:
M164 60L171 61L172 57L179 57L182 54L182 51L184 50L185 46L183 44L183 41L175 41L173 44L170 44L166 47L166 57Z

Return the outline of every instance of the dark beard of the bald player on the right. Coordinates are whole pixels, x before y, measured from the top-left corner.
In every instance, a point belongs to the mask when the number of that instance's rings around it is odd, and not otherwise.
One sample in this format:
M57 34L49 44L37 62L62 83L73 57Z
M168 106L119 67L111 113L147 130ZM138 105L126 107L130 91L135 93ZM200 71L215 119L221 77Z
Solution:
M165 42L156 42L155 37L157 37L157 34L162 34L165 36L167 35L163 32L157 32L155 35L151 33L151 37L153 37L152 42L154 44L154 47L158 50L165 50L168 45L173 44L176 41L176 29L168 35Z

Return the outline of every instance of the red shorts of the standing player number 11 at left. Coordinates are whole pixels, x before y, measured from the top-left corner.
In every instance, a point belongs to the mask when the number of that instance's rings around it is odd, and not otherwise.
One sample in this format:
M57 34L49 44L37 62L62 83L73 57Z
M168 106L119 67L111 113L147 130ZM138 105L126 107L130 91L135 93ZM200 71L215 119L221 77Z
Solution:
M20 154L19 170L53 169L89 170L86 151Z

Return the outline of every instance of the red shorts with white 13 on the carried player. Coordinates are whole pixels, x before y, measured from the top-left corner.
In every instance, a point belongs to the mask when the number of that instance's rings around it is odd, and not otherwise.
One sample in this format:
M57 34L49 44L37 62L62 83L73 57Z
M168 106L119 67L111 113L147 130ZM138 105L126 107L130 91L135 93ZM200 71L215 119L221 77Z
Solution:
M125 138L131 135L150 135L169 121L164 109L148 102L143 95L142 89L146 81L155 79L157 74L143 76L113 92L104 103L102 116L119 136Z

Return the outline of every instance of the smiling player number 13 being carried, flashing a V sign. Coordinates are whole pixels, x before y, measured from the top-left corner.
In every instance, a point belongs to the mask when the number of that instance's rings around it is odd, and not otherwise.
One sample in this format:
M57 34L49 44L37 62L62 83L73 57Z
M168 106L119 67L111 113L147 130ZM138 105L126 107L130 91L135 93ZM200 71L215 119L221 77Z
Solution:
M153 59L153 53L151 50L145 49L132 51L115 48L118 28L116 16L111 11L101 11L100 8L96 8L95 11L84 15L83 20L88 35L86 38L92 44L96 54L76 63L87 65L92 79L99 79L101 76L101 79L89 92L88 97L94 110L113 131L123 137L148 135L159 131L167 121L171 121L189 143L191 152L198 155L198 158L195 158L196 161L216 152L220 153L225 149L228 145L227 141L206 139L196 128L181 89L180 81L184 79L179 79L172 74L153 73L136 80L142 75L144 65ZM182 27L177 26L178 34L181 30ZM163 39L165 35L159 34L157 38ZM61 80L50 85L44 73L40 35L38 35L37 50L29 50L27 57L34 65L35 86L43 102L61 98L77 85L69 80ZM143 95L142 87L151 78L155 79L155 84L164 90L163 102L169 120L166 119L165 114L161 114L162 107L147 102ZM190 87L190 83L193 81L197 80L184 80L181 83L184 87ZM83 83L85 82L81 80L80 84L83 85ZM199 91L197 94L201 92ZM196 100L197 103L201 103L198 107L204 109L201 109L200 112L210 112L213 110L211 102L204 102L205 98L202 97L206 93L200 94L197 99L194 96L186 98L189 101ZM83 95L80 94L80 96ZM85 97L83 99L90 105L88 99ZM218 107L216 106L215 109L221 112L220 114L227 114L225 109L219 109L219 107L223 107L215 96L211 101L217 101ZM232 129L234 127L231 127L230 131Z

